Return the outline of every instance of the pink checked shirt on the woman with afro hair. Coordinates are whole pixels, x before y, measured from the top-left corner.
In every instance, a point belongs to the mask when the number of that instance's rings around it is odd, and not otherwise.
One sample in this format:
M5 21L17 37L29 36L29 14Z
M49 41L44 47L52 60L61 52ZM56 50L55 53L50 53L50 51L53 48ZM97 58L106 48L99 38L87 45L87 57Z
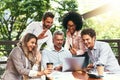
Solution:
M65 48L69 49L70 45L76 49L76 55L83 55L85 46L81 39L81 31L75 31L73 35L67 34L65 41Z

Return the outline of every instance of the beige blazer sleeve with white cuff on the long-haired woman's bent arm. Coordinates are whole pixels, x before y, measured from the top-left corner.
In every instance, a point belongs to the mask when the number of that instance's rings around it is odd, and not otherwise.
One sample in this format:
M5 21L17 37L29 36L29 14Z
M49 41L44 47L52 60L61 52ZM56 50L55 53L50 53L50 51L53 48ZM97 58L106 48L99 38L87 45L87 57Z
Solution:
M39 65L34 64L31 70L26 69L23 65L23 60L21 56L22 56L22 52L19 49L13 49L13 51L11 52L11 58L18 73L21 75L28 75L30 77L36 77L38 73Z

